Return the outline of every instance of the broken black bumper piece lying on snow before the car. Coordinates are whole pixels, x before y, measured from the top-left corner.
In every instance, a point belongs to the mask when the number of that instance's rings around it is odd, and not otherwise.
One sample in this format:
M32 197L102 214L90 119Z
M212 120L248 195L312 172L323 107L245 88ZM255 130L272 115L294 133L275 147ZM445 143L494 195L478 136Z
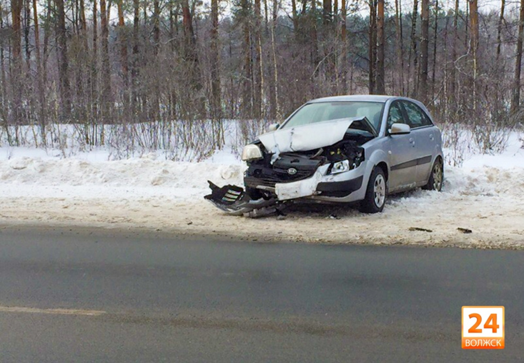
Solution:
M274 198L252 200L239 186L230 184L221 188L209 180L208 183L211 194L204 199L228 214L256 218L278 212L278 202Z

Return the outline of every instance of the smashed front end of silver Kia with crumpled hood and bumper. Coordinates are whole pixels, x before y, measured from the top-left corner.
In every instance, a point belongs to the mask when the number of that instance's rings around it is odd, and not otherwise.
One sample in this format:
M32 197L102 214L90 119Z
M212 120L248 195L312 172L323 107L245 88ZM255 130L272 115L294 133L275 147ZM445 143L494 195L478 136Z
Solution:
M314 125L323 134L300 126L261 135L252 144L260 149L261 157L244 156L246 192L253 199L275 197L278 201L351 194L362 185L363 172L357 170L365 161L361 145L374 137L371 129L366 136L352 133L359 130L352 126L362 128L367 123L365 117L341 119Z

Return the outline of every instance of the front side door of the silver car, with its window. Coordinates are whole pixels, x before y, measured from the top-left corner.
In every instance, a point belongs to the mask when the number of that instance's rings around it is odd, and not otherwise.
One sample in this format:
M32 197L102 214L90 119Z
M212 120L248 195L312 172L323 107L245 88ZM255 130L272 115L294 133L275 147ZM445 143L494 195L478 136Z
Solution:
M386 132L392 124L408 124L406 113L400 101L391 103L388 110ZM408 124L409 125L409 124ZM416 179L417 155L414 136L409 134L389 135L389 191L395 192L414 186Z

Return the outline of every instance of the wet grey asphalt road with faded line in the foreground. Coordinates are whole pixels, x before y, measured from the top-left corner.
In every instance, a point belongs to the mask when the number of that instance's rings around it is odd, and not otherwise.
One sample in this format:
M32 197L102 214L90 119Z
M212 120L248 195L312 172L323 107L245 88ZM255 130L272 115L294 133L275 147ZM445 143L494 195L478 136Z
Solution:
M523 261L3 228L0 361L523 361ZM504 350L461 349L463 305L505 306Z

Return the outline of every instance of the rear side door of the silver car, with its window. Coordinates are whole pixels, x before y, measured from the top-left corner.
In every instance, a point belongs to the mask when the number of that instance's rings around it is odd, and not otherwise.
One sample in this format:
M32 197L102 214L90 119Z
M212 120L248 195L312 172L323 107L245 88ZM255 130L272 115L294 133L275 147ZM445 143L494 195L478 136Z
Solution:
M431 160L436 145L436 128L431 119L418 105L410 101L402 101L402 106L408 117L408 125L415 140L417 155L416 180L417 183L428 181L431 171Z

